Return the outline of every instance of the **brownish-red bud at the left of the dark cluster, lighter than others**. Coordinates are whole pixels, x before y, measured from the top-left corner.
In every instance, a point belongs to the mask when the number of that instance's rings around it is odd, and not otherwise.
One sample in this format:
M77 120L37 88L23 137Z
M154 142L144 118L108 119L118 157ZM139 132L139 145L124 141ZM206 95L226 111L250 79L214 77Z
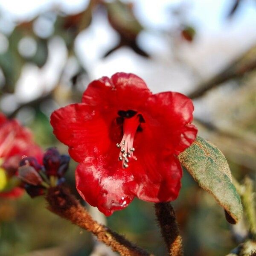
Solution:
M42 183L42 178L34 167L29 165L20 166L18 169L18 177L25 183L38 186Z

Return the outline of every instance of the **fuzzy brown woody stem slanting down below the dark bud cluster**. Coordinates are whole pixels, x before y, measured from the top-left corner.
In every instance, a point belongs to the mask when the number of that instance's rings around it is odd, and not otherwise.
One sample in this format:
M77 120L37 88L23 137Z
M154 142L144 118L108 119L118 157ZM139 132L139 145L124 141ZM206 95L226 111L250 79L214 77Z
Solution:
M51 187L48 189L46 200L48 201L48 209L51 212L93 233L99 241L110 246L113 251L120 253L121 256L151 255L123 236L120 236L108 227L93 220L91 215L81 206L74 195L70 194L69 189L62 186Z

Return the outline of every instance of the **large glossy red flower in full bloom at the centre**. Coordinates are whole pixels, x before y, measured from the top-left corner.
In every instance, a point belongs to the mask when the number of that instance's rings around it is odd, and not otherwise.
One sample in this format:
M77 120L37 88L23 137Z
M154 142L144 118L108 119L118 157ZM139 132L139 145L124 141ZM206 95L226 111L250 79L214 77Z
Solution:
M111 215L135 196L150 202L177 198L177 155L197 134L193 109L183 94L152 94L138 76L116 73L91 82L82 103L53 112L51 124L80 163L81 197Z

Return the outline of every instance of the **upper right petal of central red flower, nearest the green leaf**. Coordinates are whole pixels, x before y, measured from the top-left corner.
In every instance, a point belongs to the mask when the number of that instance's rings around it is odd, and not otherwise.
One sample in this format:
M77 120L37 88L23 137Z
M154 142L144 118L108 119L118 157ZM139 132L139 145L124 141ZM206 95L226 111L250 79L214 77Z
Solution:
M158 93L148 99L143 117L160 150L179 154L193 143L197 134L191 124L193 110L192 100L181 93Z

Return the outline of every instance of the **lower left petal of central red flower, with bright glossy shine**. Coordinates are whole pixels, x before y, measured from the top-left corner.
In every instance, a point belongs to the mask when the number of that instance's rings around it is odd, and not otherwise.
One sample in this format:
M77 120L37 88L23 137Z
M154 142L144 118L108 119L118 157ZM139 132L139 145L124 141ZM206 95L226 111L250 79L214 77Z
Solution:
M76 188L85 201L109 216L133 200L134 195L126 192L133 176L121 165L117 168L117 160L116 164L106 164L104 157L85 158L76 168Z

